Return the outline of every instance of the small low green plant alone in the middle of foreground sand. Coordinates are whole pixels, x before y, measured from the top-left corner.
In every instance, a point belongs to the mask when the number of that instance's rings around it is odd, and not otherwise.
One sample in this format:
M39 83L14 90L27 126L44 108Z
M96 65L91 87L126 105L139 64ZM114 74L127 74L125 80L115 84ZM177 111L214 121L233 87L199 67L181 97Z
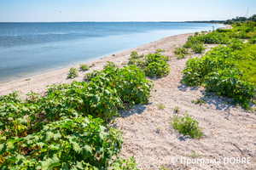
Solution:
M189 117L188 114L185 116L172 116L170 124L174 129L178 130L178 133L183 133L184 135L188 134L192 139L201 139L203 137L203 128L199 127L198 122Z

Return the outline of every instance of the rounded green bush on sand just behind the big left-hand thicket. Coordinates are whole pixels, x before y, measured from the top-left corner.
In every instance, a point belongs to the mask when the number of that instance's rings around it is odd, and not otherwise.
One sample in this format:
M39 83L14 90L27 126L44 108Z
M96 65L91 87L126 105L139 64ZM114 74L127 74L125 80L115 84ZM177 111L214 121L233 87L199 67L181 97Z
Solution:
M137 52L131 53L130 65L137 65L142 68L148 77L164 77L169 74L170 68L166 61L169 57L161 54L144 54L138 56Z

